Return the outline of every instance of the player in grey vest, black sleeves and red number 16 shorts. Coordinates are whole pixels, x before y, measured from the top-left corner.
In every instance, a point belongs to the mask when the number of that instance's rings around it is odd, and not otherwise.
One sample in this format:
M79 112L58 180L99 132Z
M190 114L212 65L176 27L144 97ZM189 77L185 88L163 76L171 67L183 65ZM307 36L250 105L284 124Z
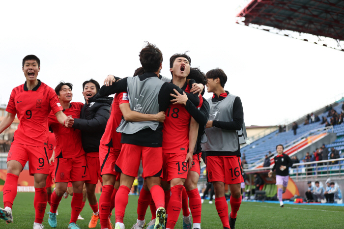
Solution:
M227 75L222 69L208 71L206 78L208 92L214 93L208 99L210 116L205 127L208 141L202 145L206 153L207 179L214 185L215 207L224 229L234 229L241 204L240 183L244 181L237 132L243 129L244 112L240 98L225 91ZM229 184L231 194L229 215L225 184Z

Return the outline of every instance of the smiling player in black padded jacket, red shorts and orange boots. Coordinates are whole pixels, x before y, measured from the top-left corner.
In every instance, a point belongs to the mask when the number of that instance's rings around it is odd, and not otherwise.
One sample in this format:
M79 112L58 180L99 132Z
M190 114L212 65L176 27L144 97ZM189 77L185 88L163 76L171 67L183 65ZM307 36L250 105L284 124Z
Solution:
M85 105L80 111L80 118L74 119L73 128L81 130L81 140L86 152L87 168L90 180L85 182L87 200L93 210L89 226L95 226L99 219L98 202L95 196L95 188L98 183L103 182L100 176L99 144L102 138L106 123L110 116L110 106L113 101L111 97L93 97L99 91L97 81L90 79L83 83L83 95ZM91 225L92 224L92 225Z

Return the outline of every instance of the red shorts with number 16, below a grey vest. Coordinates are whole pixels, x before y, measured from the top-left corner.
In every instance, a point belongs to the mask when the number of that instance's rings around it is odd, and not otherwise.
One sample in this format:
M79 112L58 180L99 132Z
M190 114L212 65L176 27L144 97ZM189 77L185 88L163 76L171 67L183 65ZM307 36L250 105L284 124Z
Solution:
M225 184L244 182L240 157L206 156L207 181L221 181Z

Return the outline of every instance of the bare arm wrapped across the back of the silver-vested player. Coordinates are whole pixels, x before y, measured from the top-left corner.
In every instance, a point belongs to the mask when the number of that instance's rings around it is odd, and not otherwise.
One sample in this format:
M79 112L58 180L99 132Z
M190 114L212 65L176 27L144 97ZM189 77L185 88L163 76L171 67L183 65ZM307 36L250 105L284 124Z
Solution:
M122 103L119 105L123 117L128 122L143 122L143 121L159 121L164 122L166 115L165 112L159 112L158 114L142 114L130 109L129 103Z

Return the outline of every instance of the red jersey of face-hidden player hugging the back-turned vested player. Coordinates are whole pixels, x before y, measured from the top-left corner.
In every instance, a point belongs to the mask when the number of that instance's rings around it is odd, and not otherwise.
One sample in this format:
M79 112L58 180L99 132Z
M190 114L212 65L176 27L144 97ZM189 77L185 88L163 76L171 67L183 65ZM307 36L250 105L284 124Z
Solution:
M120 143L122 134L116 132L116 128L119 126L119 123L121 122L123 116L122 112L119 109L119 105L122 103L129 103L127 92L115 94L110 109L110 117L108 123L106 124L103 137L100 140L100 143L105 145L108 145L110 143L110 145L108 146L112 146L114 149L117 150L120 150L122 147L122 143Z

